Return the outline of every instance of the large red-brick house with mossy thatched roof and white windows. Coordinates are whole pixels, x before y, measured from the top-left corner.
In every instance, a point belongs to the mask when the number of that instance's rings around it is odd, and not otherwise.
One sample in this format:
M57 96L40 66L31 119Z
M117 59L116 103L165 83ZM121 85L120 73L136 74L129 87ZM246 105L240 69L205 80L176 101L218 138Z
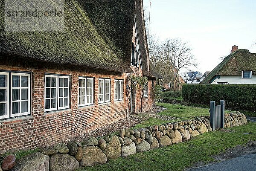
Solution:
M1 4L3 6L3 4ZM65 0L64 32L6 32L0 10L0 149L52 145L140 111L131 74L148 77L143 0Z

